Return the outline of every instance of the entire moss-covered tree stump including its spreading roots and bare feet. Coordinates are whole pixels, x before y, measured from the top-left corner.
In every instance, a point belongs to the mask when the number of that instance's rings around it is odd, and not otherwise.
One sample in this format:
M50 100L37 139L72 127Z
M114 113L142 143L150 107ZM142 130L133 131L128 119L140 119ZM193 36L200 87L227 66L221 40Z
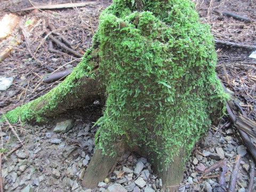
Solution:
M96 187L130 150L147 157L166 191L173 190L168 186L180 183L189 151L226 100L213 37L198 18L187 0L114 0L73 73L6 117L42 121L106 100L83 185Z

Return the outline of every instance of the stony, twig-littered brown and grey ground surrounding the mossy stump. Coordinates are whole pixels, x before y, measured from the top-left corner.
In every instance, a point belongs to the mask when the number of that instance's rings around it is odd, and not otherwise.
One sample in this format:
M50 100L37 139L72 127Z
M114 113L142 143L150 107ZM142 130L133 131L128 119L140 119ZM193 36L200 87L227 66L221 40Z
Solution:
M209 23L216 39L255 45L256 13L252 1L194 2L202 22ZM56 29L54 35L57 38L65 35L76 47L76 51L83 54L90 47L91 38L97 30L99 13L109 3L104 1L76 9L18 13L23 23L33 16L37 17L38 22L33 33L30 31L18 48L1 63L0 75L13 77L11 87L0 93L2 114L45 94L59 83L42 82L44 76L51 73L43 64L54 70L62 66L63 69L70 69L79 61L73 60L69 55L48 51L50 42L44 22L47 25L47 19L50 19ZM219 15L218 12L221 11L235 12L254 21L237 21ZM6 41L1 43L5 47ZM55 44L53 48L59 49ZM255 121L256 60L248 57L252 50L225 45L218 46L216 50L219 59L218 76L234 93L247 116ZM31 55L35 55L35 58ZM38 64L36 59L41 63ZM137 154L125 154L115 171L100 182L97 189L85 189L81 186L81 179L94 150L93 139L97 126L93 127L93 122L101 116L101 109L95 101L93 106L55 117L43 125L1 123L4 191L161 191L161 178L154 173L147 159ZM247 190L250 181L251 157L239 134L230 125L229 118L225 116L218 126L212 126L204 139L196 144L185 165L184 180L180 183L179 191L226 191L236 155L242 155L242 161L235 191L243 192ZM227 166L224 177L220 177L224 172L222 166L204 174L207 168L223 161ZM256 182L254 190L255 187Z

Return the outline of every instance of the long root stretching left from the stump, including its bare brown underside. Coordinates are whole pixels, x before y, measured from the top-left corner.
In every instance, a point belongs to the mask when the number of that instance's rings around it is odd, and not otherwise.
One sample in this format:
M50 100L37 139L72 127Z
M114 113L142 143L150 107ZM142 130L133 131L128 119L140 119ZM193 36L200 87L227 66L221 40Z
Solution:
M103 98L104 91L99 89L99 81L83 77L77 83L62 82L58 87L42 97L17 107L5 114L11 123L24 121L42 122L48 117L64 113L67 109L88 106L95 100ZM68 86L70 91L63 94L60 87ZM2 118L4 119L4 118Z

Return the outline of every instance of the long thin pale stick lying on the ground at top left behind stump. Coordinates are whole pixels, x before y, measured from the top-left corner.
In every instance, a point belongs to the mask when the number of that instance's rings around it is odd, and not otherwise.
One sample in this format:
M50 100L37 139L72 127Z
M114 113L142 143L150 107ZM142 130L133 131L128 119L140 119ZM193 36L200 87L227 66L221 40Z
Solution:
M26 9L17 10L13 12L20 12L20 11L30 11L30 10L44 10L44 9L63 9L63 8L72 8L72 7L83 7L90 4L98 3L98 1L90 1L90 2L83 2L83 3L63 3L63 4L54 4L54 5L38 5L38 6L31 6Z

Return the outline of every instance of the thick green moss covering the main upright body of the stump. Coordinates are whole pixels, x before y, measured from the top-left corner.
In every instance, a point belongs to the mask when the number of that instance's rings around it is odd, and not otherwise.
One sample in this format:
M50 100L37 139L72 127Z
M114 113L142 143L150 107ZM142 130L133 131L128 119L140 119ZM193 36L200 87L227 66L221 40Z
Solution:
M190 1L116 0L101 14L95 41L108 98L97 133L105 153L124 140L170 163L224 110L213 37Z

